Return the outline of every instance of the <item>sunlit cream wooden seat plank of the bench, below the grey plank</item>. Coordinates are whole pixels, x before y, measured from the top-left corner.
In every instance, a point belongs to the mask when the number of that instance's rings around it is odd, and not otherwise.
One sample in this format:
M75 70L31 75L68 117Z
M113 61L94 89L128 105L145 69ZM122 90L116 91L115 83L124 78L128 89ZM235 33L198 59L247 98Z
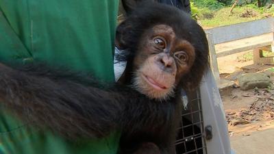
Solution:
M231 42L225 42L215 45L216 56L222 57L225 55L231 55L241 51L247 51L260 47L269 46L273 43L273 33L263 34L261 36L255 36L252 38L245 38L242 40L234 40Z

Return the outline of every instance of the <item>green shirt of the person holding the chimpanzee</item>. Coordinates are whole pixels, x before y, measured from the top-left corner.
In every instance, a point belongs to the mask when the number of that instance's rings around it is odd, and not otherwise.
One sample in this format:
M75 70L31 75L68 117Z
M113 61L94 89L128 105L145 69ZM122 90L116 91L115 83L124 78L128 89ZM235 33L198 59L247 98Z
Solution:
M0 62L46 62L114 81L114 0L0 0ZM37 131L0 106L0 154L112 154L120 134L100 140Z

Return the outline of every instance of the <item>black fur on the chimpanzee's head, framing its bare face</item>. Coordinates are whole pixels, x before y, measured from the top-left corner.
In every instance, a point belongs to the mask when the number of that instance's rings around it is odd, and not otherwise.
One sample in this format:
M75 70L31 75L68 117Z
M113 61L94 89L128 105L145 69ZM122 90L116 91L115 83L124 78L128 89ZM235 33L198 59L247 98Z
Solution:
M138 45L142 40L140 37L149 27L158 24L166 24L173 27L175 34L188 40L195 47L196 59L189 73L187 73L179 87L184 90L195 90L203 77L203 73L208 68L208 40L203 29L186 12L169 5L150 2L138 5L134 12L129 12L129 16L117 28L116 36L121 42L121 52L119 60L131 62L135 54L138 54ZM132 72L130 65L127 65L127 73ZM131 79L127 75L127 82Z

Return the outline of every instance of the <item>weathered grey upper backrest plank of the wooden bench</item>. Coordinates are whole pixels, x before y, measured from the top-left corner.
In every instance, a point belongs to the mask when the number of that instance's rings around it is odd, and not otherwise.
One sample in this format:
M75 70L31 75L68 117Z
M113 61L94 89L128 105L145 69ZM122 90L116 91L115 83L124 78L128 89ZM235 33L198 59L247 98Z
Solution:
M265 18L257 21L238 23L223 27L215 27L206 31L212 34L214 44L249 38L273 32L274 18Z

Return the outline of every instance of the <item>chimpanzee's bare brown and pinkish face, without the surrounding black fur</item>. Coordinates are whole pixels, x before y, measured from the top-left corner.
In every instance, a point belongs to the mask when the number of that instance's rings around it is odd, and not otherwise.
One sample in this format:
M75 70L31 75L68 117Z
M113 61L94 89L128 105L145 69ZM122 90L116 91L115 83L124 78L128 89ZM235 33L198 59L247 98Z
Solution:
M147 29L140 40L134 58L135 88L153 99L172 96L179 80L195 61L194 47L177 37L169 25Z

